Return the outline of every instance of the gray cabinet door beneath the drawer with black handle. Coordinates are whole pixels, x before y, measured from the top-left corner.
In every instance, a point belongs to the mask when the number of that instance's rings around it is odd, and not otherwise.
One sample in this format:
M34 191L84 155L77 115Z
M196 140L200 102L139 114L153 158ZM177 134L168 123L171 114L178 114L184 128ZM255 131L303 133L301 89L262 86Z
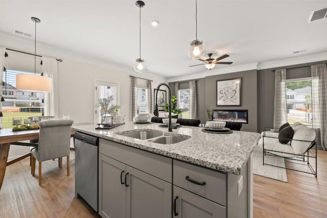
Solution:
M226 208L174 185L173 217L226 218Z

